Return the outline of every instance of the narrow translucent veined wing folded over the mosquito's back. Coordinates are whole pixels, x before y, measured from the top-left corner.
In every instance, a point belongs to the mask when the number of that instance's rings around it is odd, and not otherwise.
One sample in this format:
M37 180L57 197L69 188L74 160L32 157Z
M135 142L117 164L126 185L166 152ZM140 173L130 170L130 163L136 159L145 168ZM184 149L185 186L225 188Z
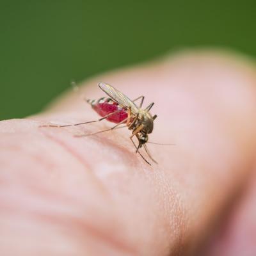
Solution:
M99 83L99 87L103 92L108 94L111 99L120 104L122 107L131 108L131 111L134 114L138 113L138 107L136 104L134 104L132 100L125 96L124 93L119 92L113 86L103 82Z

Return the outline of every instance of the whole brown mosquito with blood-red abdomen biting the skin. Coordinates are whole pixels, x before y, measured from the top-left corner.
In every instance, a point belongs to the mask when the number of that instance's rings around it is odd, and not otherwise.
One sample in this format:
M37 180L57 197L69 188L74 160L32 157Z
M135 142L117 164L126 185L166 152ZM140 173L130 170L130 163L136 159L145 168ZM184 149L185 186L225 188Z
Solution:
M101 132L112 131L114 129L128 127L129 130L132 131L130 136L130 140L132 144L136 148L136 153L140 154L143 160L150 164L147 159L141 154L140 148L144 148L148 157L154 162L157 163L156 160L151 156L146 143L153 143L148 141L148 134L152 133L154 129L154 120L156 120L157 115L151 115L150 109L154 106L154 102L150 103L147 108L143 109L143 101L145 99L144 96L140 96L134 100L129 99L124 93L118 91L113 86L100 82L99 88L108 95L108 97L102 97L98 100L86 100L88 104L95 110L102 118L98 120L93 120L90 122L82 122L78 124L71 125L42 125L41 127L69 127L83 124L90 124L93 122L100 122L102 120L108 120L109 122L113 122L116 125L109 129L105 129L98 132L92 132L90 134L81 134L75 135L76 137L84 137L91 136L94 134L99 134ZM140 100L140 104L135 104L137 100ZM138 139L138 146L134 143L134 136ZM153 143L159 144L159 143ZM173 145L173 144L161 144L161 145ZM151 165L151 164L150 164Z

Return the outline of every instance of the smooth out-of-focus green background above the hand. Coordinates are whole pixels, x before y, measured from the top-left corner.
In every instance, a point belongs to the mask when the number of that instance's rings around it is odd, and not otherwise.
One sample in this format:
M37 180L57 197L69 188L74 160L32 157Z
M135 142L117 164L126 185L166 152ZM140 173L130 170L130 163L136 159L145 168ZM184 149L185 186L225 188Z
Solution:
M1 1L0 120L98 72L186 47L256 55L256 1Z

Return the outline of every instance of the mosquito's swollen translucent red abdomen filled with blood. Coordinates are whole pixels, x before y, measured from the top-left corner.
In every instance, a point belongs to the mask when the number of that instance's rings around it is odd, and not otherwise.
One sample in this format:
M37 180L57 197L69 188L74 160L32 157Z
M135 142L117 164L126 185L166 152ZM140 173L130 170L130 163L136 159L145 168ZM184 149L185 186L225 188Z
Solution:
M103 100L99 100L98 102L95 102L95 104L92 104L92 108L100 115L100 116L106 116L110 113L113 113L117 110L117 113L109 116L106 118L109 122L113 122L115 124L118 124L125 120L125 118L128 117L128 113L125 109L120 108L116 102L110 101L108 102L108 99L102 102Z

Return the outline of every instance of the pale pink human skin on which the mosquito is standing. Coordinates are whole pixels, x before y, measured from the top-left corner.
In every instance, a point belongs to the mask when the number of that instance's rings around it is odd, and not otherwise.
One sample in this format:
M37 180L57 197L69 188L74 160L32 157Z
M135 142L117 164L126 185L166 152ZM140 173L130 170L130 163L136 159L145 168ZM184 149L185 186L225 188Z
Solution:
M40 128L99 118L74 92L44 113L0 122L1 255L236 255L239 241L225 241L237 228L246 236L232 215L251 207L241 195L255 165L252 63L185 52L93 77L80 95L104 97L99 81L154 101L149 140L175 145L148 144L159 163L150 166L125 128L74 137L109 122Z

